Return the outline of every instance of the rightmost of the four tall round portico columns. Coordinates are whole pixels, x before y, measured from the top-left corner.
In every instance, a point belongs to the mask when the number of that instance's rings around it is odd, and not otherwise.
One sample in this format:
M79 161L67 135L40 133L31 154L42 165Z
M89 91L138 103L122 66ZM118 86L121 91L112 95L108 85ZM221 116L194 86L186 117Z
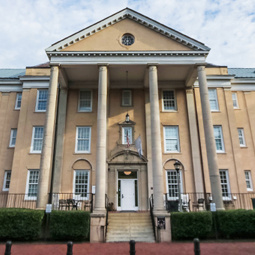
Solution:
M205 67L198 66L197 70L212 197L216 209L224 210Z

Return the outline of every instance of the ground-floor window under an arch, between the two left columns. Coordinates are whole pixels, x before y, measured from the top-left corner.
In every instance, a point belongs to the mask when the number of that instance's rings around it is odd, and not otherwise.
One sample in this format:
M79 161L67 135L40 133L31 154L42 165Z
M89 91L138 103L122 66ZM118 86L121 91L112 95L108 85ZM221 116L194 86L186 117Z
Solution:
M74 171L73 193L76 197L80 196L80 198L83 200L86 200L89 198L89 171L88 170Z

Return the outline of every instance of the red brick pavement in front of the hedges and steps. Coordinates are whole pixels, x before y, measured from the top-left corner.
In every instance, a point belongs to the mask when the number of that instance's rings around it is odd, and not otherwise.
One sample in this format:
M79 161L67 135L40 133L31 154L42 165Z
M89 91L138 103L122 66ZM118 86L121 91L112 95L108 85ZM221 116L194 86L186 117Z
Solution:
M247 255L255 254L254 242L224 242L200 244L201 255ZM0 244L0 255L4 255L5 244ZM66 255L66 244L51 243L14 243L11 255ZM73 247L73 255L124 255L129 254L129 243L77 243ZM193 243L137 243L136 255L193 255Z

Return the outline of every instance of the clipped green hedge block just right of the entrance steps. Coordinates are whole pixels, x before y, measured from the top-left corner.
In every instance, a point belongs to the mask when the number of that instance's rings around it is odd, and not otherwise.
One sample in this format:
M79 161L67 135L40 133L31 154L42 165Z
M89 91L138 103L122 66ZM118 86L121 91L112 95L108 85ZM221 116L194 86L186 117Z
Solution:
M171 228L173 240L204 239L212 231L212 213L171 213Z

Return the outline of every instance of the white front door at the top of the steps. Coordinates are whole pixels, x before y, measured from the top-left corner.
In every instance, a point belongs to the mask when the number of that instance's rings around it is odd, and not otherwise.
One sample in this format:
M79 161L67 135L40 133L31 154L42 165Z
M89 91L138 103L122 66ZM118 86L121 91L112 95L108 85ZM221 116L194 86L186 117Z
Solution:
M137 210L135 206L135 180L121 180L121 210L133 211Z

